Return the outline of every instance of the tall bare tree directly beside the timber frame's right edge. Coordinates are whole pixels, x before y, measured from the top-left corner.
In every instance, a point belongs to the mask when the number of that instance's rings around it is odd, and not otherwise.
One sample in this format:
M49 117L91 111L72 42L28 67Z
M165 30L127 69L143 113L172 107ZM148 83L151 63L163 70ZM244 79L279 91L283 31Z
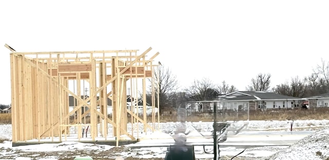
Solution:
M149 79L152 84L152 79ZM151 92L152 86L155 90L155 99L157 99L157 93L159 90L159 106L160 109L164 107L173 107L173 99L177 90L177 78L173 75L169 67L159 65L157 70L154 71L153 85L149 87L149 94L147 96L147 102L152 104ZM159 85L159 86L158 86ZM157 102L155 105L157 107Z

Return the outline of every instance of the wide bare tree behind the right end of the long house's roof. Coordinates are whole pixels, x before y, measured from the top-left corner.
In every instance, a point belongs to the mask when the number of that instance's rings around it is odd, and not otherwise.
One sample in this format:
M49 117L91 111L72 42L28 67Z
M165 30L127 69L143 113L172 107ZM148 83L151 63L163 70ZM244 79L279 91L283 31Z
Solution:
M291 78L291 82L277 85L274 89L280 95L302 98L308 92L307 78L300 79L298 76Z

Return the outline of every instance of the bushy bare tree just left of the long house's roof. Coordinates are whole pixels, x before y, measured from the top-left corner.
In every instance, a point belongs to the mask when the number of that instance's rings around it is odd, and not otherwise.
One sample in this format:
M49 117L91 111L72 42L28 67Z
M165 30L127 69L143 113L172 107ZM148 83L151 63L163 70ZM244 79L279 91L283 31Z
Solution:
M208 78L194 80L193 84L186 88L186 96L195 101L211 100L218 95L215 85Z

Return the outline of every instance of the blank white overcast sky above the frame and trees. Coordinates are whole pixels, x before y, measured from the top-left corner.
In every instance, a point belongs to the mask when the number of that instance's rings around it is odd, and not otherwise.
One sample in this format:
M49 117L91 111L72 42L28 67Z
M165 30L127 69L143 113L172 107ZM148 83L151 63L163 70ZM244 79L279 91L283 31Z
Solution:
M10 51L152 47L187 87L203 77L245 90L312 74L329 57L329 1L1 1L0 104L10 104Z

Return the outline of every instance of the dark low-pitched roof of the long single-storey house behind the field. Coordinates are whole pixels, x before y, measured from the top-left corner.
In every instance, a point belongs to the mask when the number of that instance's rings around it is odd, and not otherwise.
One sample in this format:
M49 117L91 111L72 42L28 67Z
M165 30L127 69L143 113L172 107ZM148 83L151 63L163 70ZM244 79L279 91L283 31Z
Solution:
M230 100L297 100L298 97L284 96L271 92L253 92L253 91L236 91L225 95L224 97L232 97Z

